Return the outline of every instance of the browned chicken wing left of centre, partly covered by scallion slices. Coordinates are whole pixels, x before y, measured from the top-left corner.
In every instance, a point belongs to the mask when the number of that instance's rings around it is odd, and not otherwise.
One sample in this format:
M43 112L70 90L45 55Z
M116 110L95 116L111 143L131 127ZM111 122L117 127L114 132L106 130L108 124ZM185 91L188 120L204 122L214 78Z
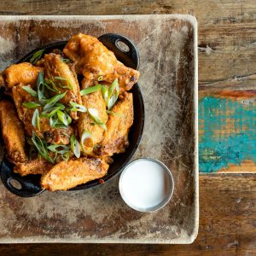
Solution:
M39 137L45 138L48 143L63 145L67 145L69 143L69 137L73 133L71 127L69 127L69 129L53 128L49 125L49 119L47 118L40 118L40 130L38 127L32 125L32 116L35 108L26 108L22 103L36 102L36 98L26 92L22 85L13 87L13 97L18 115L20 120L23 122L28 135L32 136L32 131L35 131ZM38 110L40 111L41 108L42 107L38 107Z

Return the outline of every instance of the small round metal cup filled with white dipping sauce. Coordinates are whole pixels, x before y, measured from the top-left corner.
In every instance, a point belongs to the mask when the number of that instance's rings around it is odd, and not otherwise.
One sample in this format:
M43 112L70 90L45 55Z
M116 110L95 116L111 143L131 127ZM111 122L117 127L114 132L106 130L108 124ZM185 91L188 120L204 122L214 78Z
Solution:
M172 196L172 176L167 172L164 166L154 160L131 162L119 180L119 190L124 201L142 212L150 212L159 205L163 207L166 197Z

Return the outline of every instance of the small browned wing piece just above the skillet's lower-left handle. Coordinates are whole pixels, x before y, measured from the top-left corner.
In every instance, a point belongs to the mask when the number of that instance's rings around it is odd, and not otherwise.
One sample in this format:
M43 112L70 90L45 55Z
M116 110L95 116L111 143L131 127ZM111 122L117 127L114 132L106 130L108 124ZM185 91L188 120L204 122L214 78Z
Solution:
M26 176L28 174L45 174L54 165L44 160L43 158L28 160L24 163L18 163L15 165L14 172L19 173L20 176Z

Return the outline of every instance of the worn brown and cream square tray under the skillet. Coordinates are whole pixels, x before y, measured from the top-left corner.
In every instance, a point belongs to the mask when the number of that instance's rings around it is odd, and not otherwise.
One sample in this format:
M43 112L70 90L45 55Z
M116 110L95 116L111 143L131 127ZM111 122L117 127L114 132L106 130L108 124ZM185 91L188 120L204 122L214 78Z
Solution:
M0 242L190 243L198 230L197 27L189 15L0 16L0 70L43 44L78 32L116 32L140 52L146 110L138 157L171 168L172 200L136 212L119 195L119 177L95 189L11 194L0 183Z

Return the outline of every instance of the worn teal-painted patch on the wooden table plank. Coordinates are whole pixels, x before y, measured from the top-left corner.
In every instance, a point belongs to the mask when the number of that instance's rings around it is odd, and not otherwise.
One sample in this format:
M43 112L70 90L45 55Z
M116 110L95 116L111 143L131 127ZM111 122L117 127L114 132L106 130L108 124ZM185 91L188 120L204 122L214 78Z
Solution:
M199 101L200 172L218 172L244 160L256 163L255 99L205 96Z

